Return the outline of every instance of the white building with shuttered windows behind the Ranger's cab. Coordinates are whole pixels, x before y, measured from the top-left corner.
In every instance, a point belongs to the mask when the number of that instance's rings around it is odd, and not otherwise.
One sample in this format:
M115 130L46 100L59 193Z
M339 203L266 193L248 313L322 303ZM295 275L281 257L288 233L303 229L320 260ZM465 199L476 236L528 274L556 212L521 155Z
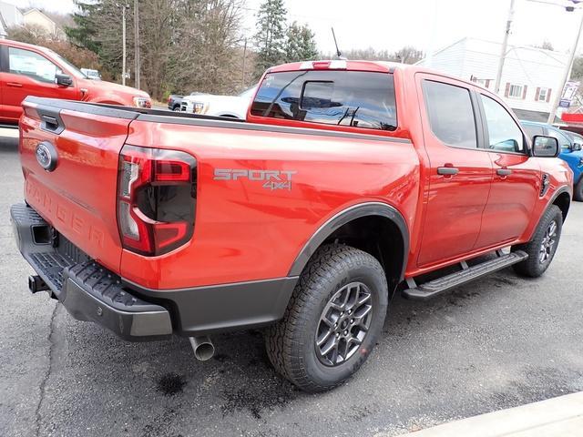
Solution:
M471 80L494 91L501 44L465 37L417 64ZM500 97L517 117L547 121L568 55L537 47L510 46L500 81Z

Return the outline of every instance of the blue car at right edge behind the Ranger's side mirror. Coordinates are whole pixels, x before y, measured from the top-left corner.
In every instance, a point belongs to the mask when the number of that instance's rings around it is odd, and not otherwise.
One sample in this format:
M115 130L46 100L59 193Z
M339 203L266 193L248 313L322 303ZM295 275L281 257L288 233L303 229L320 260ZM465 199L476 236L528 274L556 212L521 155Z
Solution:
M567 130L561 130L558 127L547 125L546 123L537 123L535 121L521 121L522 126L530 137L535 135L546 135L555 137L558 145L561 147L561 153L558 158L567 161L568 167L573 170L573 198L579 202L583 201L583 137Z

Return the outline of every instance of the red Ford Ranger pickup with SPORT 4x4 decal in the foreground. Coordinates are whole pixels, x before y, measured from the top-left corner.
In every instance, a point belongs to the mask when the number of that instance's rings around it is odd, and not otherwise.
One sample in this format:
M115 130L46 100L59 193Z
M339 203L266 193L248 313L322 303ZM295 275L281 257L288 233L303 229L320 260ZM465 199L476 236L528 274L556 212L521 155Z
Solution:
M247 122L24 108L12 220L30 290L128 340L189 337L203 360L210 334L266 327L274 367L305 391L363 364L395 291L541 275L572 194L555 138L415 66L273 67Z

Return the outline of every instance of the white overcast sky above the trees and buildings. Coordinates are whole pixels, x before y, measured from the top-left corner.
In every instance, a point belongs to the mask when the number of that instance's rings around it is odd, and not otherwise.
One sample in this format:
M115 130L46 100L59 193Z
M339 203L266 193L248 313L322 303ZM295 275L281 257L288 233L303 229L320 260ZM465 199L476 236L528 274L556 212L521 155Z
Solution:
M5 0L17 5L26 0ZM146 2L148 0L140 0ZM254 33L255 14L262 0L247 0L244 30ZM541 0L565 3L567 0ZM425 52L465 36L502 41L510 0L286 0L290 20L307 23L320 50L333 51L333 25L341 49L396 50L409 45ZM511 44L540 45L549 41L568 51L582 11L566 12L557 5L516 0ZM60 12L73 10L72 0L30 0L29 5ZM581 51L583 43L579 45Z

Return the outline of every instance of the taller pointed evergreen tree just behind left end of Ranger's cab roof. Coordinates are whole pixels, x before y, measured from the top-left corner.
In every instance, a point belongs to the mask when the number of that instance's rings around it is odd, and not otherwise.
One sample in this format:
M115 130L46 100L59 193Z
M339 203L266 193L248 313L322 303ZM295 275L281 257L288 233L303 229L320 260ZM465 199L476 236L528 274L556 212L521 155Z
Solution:
M255 76L285 60L285 23L287 11L283 0L265 0L257 14Z

